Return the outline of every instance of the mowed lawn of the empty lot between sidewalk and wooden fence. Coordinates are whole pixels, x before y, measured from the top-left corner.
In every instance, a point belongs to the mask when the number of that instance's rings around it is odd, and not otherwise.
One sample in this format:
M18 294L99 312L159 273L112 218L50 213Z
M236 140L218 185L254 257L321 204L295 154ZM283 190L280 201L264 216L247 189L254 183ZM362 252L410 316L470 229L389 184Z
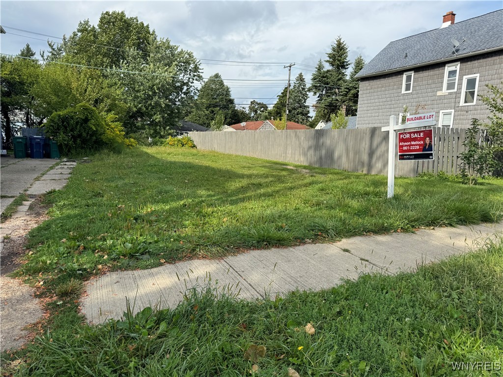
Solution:
M469 187L398 178L388 200L385 176L216 152L135 148L91 160L75 167L64 190L48 196L52 218L30 234L30 246L41 246L27 272L66 262L70 269L147 267L159 259L220 257L243 248L503 216L503 181L497 179Z

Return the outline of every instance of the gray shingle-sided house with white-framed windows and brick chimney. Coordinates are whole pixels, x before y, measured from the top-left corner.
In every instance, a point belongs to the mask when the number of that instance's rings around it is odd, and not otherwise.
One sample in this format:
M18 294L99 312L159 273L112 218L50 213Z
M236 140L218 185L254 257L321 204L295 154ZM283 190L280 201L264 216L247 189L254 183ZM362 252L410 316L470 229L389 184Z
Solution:
M435 112L443 127L487 120L478 96L503 81L503 10L457 24L455 16L448 12L439 29L389 43L357 74L358 128L387 126L404 105Z

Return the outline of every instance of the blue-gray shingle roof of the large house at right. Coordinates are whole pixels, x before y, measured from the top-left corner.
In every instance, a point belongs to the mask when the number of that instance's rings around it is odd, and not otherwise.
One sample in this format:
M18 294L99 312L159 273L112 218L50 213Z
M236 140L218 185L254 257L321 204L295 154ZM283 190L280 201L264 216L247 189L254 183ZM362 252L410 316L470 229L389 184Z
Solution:
M459 45L454 53L452 38ZM356 77L371 77L503 49L503 10L389 43Z

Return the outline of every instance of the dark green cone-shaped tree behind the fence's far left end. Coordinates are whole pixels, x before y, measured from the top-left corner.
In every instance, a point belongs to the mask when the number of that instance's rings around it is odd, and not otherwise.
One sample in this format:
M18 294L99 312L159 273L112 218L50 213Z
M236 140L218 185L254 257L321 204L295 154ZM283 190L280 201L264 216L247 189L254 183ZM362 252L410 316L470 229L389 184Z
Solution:
M237 123L237 112L230 87L225 85L219 73L211 75L201 86L192 113L187 120L210 127L218 112L224 115L224 124Z

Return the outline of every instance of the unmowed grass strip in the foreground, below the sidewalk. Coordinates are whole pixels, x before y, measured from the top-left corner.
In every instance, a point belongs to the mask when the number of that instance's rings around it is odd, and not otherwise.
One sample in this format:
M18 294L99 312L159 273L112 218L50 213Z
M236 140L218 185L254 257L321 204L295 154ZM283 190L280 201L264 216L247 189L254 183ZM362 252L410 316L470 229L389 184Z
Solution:
M500 240L417 273L362 275L275 300L240 301L209 287L174 310L147 308L99 326L76 325L63 303L66 332L37 338L16 375L286 376L293 368L301 376L496 376L451 363L503 365L502 282ZM250 345L265 346L265 356L245 359Z

